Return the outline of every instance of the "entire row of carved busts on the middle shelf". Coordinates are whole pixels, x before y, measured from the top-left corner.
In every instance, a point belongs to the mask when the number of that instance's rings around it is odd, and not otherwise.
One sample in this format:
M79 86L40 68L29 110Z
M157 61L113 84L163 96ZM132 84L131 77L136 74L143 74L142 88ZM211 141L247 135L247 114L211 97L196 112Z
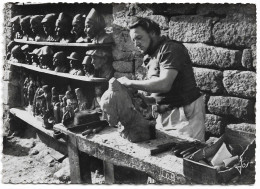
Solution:
M17 45L11 41L7 46L7 60L15 63L25 63L56 72L72 75L86 75L110 79L113 77L113 57L109 49L88 50L86 53L53 51L50 46L32 48L29 45Z

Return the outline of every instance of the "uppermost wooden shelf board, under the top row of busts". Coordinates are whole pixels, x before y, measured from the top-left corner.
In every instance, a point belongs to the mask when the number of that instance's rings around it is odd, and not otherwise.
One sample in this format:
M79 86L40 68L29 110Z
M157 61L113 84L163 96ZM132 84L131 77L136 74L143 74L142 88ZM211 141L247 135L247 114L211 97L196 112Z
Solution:
M17 43L39 46L57 46L57 47L86 47L86 48L101 48L110 47L113 43L107 44L93 44L93 43L60 43L60 42L37 42L37 41L25 41L23 39L14 39Z

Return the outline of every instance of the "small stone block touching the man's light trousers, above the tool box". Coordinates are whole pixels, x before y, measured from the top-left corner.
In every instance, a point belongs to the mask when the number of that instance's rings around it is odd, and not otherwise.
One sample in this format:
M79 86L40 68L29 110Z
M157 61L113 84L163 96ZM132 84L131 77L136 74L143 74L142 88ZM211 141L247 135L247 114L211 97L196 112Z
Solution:
M206 132L214 136L221 136L227 126L226 119L214 114L206 114L205 119Z

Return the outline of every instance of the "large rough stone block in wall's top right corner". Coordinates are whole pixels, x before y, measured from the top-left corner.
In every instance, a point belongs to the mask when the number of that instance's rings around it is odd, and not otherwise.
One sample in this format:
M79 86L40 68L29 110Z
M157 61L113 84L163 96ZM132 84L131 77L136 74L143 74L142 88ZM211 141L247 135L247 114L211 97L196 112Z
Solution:
M212 35L216 45L250 48L256 44L256 15L228 15L214 25Z

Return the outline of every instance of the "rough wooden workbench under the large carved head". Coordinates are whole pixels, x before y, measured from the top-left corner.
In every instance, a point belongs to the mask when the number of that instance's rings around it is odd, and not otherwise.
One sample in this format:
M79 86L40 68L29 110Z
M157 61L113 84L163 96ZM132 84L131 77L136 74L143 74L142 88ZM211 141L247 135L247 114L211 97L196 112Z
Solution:
M131 143L120 137L116 128L107 127L100 133L84 137L80 133L72 133L62 124L54 129L68 136L68 154L71 161L71 181L81 183L79 152L85 152L104 161L105 170L110 174L110 183L115 182L113 165L133 168L147 173L161 183L187 184L191 183L184 175L183 159L165 152L156 156L150 155L150 149L167 142L180 142L182 139L167 136L157 132L157 139L142 143ZM106 172L105 171L105 172ZM112 178L111 178L112 177Z

